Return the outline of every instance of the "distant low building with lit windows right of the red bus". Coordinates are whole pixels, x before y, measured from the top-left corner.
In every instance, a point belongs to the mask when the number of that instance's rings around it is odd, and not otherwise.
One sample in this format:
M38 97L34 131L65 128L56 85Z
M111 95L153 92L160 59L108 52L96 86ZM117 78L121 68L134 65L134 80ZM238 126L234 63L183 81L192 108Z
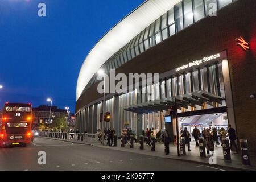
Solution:
M49 124L49 114L50 114L50 106L41 105L39 107L33 108L33 127L38 128L39 126L48 126ZM67 115L67 111L65 109L58 109L57 106L52 106L51 109L51 123L55 117L59 117L60 115Z

